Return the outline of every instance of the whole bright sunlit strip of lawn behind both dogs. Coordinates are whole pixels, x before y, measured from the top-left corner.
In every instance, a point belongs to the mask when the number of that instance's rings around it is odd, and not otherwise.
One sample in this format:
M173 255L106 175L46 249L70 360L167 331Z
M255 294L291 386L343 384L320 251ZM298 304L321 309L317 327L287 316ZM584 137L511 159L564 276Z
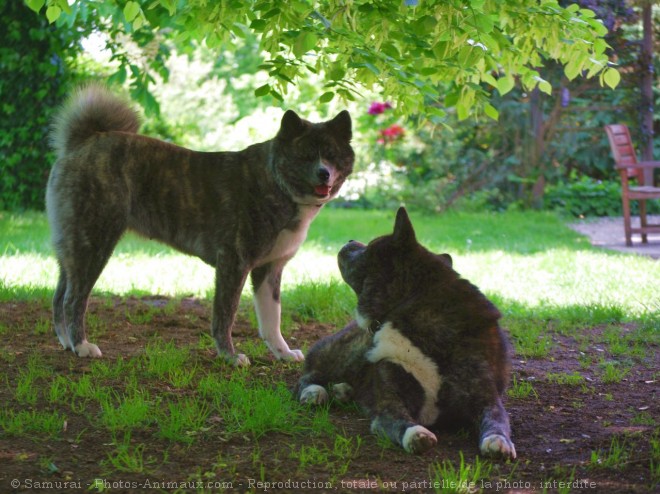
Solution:
M484 293L530 307L616 305L631 315L660 310L660 263L643 257L564 249L452 256L454 269ZM8 287L52 289L58 270L53 257L27 253L0 257L0 273ZM110 259L95 291L205 297L213 293L214 279L213 268L194 257L120 253ZM282 288L340 279L334 252L304 246L285 268Z

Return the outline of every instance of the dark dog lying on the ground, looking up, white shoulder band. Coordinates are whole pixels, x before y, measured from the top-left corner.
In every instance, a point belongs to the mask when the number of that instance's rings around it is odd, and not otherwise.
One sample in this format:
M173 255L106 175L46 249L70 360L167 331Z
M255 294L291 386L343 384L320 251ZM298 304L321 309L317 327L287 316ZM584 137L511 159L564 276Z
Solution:
M341 274L358 296L357 320L307 355L297 395L323 403L326 386L355 399L371 430L406 451L437 442L426 427L479 428L484 454L516 457L502 394L510 347L499 311L452 269L448 254L422 247L405 209L392 235L339 252Z

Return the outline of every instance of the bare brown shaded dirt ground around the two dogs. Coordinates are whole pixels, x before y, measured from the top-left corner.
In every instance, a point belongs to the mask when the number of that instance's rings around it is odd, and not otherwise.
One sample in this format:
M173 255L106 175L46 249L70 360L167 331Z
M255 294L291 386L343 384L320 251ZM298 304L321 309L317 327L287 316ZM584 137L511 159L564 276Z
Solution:
M94 321L103 321L107 328L91 338L103 350L104 360L114 362L139 355L148 342L161 337L194 348L191 365L217 365L213 350L199 344L200 339L206 338L203 335L210 324L206 302L161 297L93 299L90 314L92 334ZM80 376L89 369L89 361L62 351L49 320L50 308L43 301L0 304L0 331L4 333L0 409L20 411L50 406L43 398L33 405L15 403L21 371L34 355L62 375ZM620 329L622 334L637 331L634 325L622 325ZM334 330L323 324L300 323L288 339L304 348ZM234 335L239 348L249 346L257 338L244 311L239 314ZM579 339L561 334L552 337L554 344L547 358L514 360L516 381L528 383L533 389L526 397L507 399L518 459L492 462L490 472L479 479L474 490L654 492L658 452L654 453L652 447L659 438L660 416L657 347L647 345L642 355L622 361L620 355L610 353L602 328L581 330ZM625 366L620 382L605 382L598 362L608 360ZM219 368L223 373L233 372ZM249 372L254 379L284 382L292 388L300 376L300 367L267 356L253 359ZM173 390L163 385L163 392ZM73 492L90 487L103 487L107 492L158 492L153 487L161 492L177 490L174 484L163 482L179 482L179 492L419 492L443 488L451 492L452 487L458 487L458 492L470 490L461 491L461 486L450 485L448 477L434 470L446 461L458 468L461 455L465 464L474 467L478 450L476 439L469 433L439 433L436 448L422 456L411 456L371 436L369 421L355 408L334 406L329 413L345 438L357 441L361 437L359 448L353 442L345 453L330 458L332 464L310 461L303 467L300 458L291 455L304 445L324 442L329 450L337 450L330 436L227 436L223 417L212 417L207 432L190 444L157 439L149 431L134 434L132 440L145 445L145 466L141 473L127 473L108 467L109 445L116 438L93 427L94 413L69 409L66 430L51 439L8 435L0 430L0 491ZM607 452L613 440L623 452L620 461L608 465L611 455ZM346 455L345 468L338 466L340 454ZM655 474L651 468L653 458ZM20 481L18 487L12 484L14 479ZM103 479L106 484L95 487L95 479Z

